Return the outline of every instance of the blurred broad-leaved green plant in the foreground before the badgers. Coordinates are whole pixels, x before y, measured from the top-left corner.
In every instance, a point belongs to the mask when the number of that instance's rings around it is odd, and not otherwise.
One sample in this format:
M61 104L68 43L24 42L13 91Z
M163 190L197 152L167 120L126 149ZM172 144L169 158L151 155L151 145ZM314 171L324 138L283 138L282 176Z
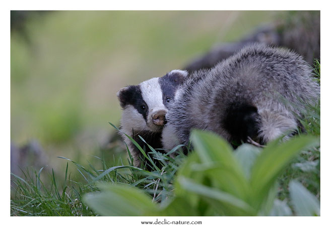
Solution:
M101 185L101 192L88 193L84 201L102 215L289 215L289 207L276 199L277 177L300 151L318 144L318 138L300 136L263 150L243 145L233 152L212 133L194 131L191 139L195 152L178 170L170 202L155 204L143 190L117 184ZM133 209L137 202L141 207Z

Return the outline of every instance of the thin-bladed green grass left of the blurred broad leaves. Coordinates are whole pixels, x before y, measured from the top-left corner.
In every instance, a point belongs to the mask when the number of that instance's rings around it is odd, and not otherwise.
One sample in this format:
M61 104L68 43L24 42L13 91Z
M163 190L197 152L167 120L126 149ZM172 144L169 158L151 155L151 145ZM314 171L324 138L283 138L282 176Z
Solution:
M156 152L156 151L155 151ZM161 153L156 152L156 155ZM170 158L168 155L161 155ZM99 191L97 182L112 182L118 184L132 185L144 189L156 202L164 202L173 190L173 176L179 168L184 155L179 155L163 168L162 171L146 171L132 165L107 166L104 159L98 159L103 168L97 170L93 165L84 167L70 159L68 160L77 167L77 171L83 177L82 182L71 179L68 173L68 163L65 170L64 183L58 184L58 177L54 172L49 176L51 185L44 185L40 179L40 169L33 174L31 171L23 171L24 179L14 175L14 186L12 186L11 214L31 216L81 216L96 215L82 201L82 196L91 191Z

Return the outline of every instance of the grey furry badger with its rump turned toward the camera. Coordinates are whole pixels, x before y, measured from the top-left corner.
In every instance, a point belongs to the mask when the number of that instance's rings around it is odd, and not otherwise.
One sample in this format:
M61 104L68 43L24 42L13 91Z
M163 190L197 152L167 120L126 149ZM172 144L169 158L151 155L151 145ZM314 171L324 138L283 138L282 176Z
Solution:
M192 129L212 131L233 145L249 138L266 144L295 132L305 107L318 97L319 86L301 56L251 44L185 79L168 106L163 148L188 146Z

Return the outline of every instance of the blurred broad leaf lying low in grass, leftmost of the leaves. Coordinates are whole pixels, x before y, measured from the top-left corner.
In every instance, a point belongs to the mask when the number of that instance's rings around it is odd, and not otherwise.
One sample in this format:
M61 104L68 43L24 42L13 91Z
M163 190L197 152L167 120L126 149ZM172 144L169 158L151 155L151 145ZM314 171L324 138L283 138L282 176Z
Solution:
M83 200L103 216L143 216L158 212L143 190L128 185L99 184L101 192L90 192Z

